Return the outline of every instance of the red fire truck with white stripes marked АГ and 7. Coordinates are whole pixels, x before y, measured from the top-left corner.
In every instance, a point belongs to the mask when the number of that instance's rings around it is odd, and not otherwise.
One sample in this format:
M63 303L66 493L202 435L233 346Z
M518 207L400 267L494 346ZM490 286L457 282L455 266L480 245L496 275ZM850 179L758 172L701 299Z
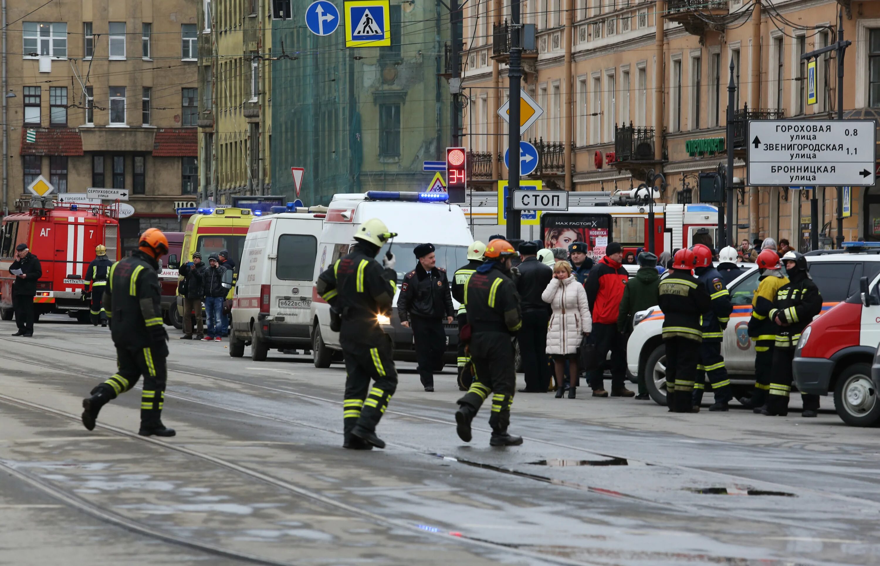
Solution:
M15 248L25 243L40 260L43 275L37 282L34 320L41 314L67 313L89 321L85 270L95 259L95 246L106 246L107 259L119 261L119 207L114 204L55 203L34 200L26 212L3 219L0 232L0 315L12 319L12 282L9 268Z

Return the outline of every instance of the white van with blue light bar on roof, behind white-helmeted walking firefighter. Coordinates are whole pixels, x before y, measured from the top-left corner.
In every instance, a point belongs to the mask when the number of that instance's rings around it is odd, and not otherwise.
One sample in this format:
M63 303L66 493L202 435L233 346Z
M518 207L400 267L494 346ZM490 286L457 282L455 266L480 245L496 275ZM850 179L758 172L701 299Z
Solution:
M400 326L397 316L397 298L403 276L412 271L417 261L415 246L431 243L436 247L436 266L451 274L467 263L467 247L473 242L465 215L456 204L446 202L445 193L397 193L369 191L367 193L334 195L327 209L324 230L318 243L312 281L336 260L348 254L355 243L355 232L363 222L378 218L398 236L383 246L378 258L389 249L396 257L398 292L394 294L390 318L381 317L378 323L392 338L395 359L415 359L413 332ZM458 304L453 299L453 305ZM444 361L454 363L458 348L458 325L444 322L446 354ZM328 367L334 359L341 360L339 334L330 329L330 305L312 290L312 350L316 367ZM440 368L436 368L439 370Z

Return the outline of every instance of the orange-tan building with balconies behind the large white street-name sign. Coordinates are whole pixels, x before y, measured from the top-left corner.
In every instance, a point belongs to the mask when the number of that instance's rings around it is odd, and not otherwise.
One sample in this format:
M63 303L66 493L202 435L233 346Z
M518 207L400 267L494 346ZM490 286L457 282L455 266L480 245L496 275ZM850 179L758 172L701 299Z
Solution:
M503 4L502 4L503 1ZM748 0L525 0L523 23L535 24L537 49L524 53L525 92L545 113L524 139L546 163L536 175L551 187L625 189L649 170L664 173L663 202L698 202L697 175L726 164L745 179L748 119L836 117L837 66L818 59L817 102L808 104L800 55L835 41L838 11L845 37L847 117L880 115L880 6L790 0L763 7ZM464 125L475 174L487 188L506 178L497 156L507 149L506 123L495 114L507 97L507 0L468 4L465 13ZM733 63L736 128L726 135L727 87ZM479 180L477 182L480 182ZM809 193L809 195L808 195ZM820 230L836 236L834 187L817 187ZM737 239L772 236L803 243L810 232L812 191L737 189ZM880 191L852 191L844 236L880 239ZM875 228L876 222L876 228Z

